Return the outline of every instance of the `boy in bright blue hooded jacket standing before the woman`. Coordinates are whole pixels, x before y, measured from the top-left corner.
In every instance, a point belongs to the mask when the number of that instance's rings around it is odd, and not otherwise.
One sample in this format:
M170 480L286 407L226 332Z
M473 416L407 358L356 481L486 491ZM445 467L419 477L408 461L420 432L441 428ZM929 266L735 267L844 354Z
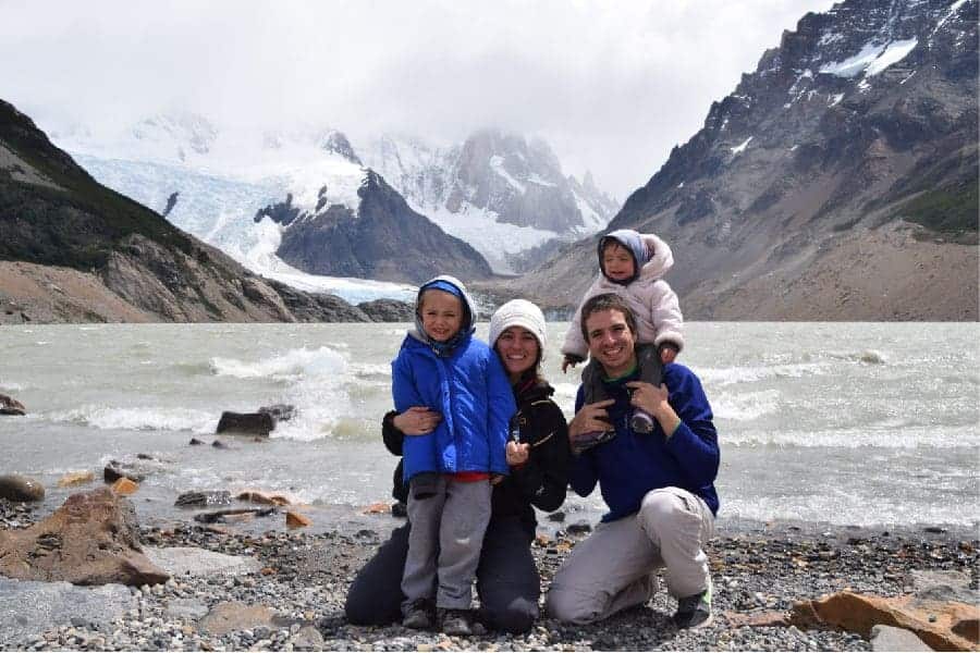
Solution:
M408 557L402 605L408 628L471 632L471 584L490 520L490 485L507 472L514 393L497 354L473 336L476 310L458 280L441 275L418 291L415 329L392 362L395 409L427 407L442 420L406 436Z

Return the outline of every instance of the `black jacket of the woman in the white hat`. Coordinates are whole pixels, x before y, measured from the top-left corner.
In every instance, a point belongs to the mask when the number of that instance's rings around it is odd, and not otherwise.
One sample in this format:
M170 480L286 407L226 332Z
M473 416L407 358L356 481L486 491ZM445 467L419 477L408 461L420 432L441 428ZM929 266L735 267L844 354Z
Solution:
M517 517L534 532L537 520L531 506L547 513L556 510L565 501L568 485L568 424L561 409L551 401L554 389L546 381L525 379L513 386L517 412L511 420L511 439L530 445L530 456L522 467L511 468L510 476L493 486L491 521ZM404 433L392 421L391 411L382 420L384 446L396 456L402 455ZM402 478L402 463L395 468L392 496L405 502L407 486Z

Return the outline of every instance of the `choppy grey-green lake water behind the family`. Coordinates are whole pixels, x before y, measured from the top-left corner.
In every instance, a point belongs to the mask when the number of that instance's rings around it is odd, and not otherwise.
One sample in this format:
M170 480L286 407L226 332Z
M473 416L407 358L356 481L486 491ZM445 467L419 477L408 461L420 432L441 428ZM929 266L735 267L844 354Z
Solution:
M546 373L561 373L566 323L548 325ZM39 478L111 458L162 458L137 495L167 517L177 492L257 486L322 509L384 501L392 458L395 324L152 324L0 328L0 393L28 408L0 418L0 473ZM486 324L478 330L486 335ZM980 498L980 326L975 323L689 323L681 361L697 372L722 447L722 518L841 525L976 523ZM222 410L286 403L268 442L206 442ZM567 507L591 516L598 493Z

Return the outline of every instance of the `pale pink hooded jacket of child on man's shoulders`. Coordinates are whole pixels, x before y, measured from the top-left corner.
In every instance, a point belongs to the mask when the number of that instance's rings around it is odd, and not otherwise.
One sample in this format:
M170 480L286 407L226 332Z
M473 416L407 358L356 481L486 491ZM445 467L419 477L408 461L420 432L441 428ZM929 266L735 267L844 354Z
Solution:
M642 234L648 249L653 249L653 258L642 267L639 278L629 285L621 285L608 280L602 273L596 278L585 297L575 309L575 316L568 325L562 354L572 354L583 360L588 358L589 345L581 336L581 307L589 297L603 293L615 293L626 300L636 316L637 342L659 345L667 341L684 348L684 317L677 294L667 282L661 279L674 266L671 247L653 234Z

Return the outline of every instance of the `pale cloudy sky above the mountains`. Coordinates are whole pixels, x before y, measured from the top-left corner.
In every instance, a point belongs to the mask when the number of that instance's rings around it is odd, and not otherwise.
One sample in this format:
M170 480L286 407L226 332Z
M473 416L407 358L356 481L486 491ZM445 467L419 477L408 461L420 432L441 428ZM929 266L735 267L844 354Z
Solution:
M0 98L46 130L193 111L357 146L498 126L620 200L830 0L0 0Z

